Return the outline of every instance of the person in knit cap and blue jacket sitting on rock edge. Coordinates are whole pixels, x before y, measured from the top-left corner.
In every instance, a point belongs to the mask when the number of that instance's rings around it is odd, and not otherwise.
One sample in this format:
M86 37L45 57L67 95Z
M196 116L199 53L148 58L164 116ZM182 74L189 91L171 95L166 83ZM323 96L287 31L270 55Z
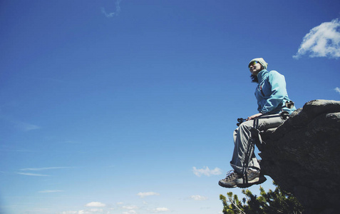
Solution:
M255 96L259 113L249 116L234 131L234 153L230 165L233 170L227 173L226 178L219 181L225 188L247 188L254 184L263 183L266 178L260 173L259 161L254 154L254 130L267 130L276 128L284 123L281 113L292 113L296 108L289 108L284 76L277 71L267 71L268 63L263 58L254 58L249 62L252 82L257 83ZM256 127L255 122L256 121Z

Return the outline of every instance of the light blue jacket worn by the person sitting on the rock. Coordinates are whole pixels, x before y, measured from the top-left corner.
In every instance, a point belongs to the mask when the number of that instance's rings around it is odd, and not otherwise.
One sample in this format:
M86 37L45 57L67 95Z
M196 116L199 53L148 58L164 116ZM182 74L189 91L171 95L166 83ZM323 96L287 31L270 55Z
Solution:
M255 96L257 98L257 110L263 114L280 113L287 111L292 113L297 108L287 108L286 101L290 101L284 76L277 71L262 70L257 74L259 80Z

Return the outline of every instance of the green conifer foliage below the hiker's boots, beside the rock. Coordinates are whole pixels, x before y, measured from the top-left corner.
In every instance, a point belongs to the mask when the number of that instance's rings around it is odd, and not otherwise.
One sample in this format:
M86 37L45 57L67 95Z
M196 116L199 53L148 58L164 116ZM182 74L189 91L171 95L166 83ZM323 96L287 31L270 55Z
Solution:
M299 214L304 210L291 193L287 193L277 184L275 190L268 190L268 193L260 186L260 196L253 195L248 189L242 190L245 198L239 200L237 195L232 192L225 195L220 195L220 200L223 204L223 214L274 214L274 213L287 213Z

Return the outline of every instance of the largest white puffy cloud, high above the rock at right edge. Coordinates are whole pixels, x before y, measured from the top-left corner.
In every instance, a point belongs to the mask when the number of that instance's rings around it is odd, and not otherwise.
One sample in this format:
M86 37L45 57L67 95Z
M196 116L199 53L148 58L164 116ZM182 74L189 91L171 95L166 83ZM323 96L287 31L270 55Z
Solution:
M309 31L294 58L309 53L310 57L340 57L340 21L324 22Z

